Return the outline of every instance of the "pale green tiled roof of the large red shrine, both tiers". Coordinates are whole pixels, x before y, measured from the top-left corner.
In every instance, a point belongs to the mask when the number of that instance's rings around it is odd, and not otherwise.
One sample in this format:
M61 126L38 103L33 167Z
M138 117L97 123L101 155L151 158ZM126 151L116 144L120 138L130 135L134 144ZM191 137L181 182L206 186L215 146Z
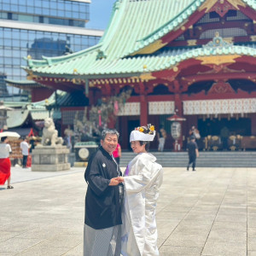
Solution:
M27 60L27 69L41 76L101 77L137 76L172 68L180 61L207 55L252 55L252 46L218 45L208 48L169 49L159 55L130 56L183 24L201 4L210 0L119 0L113 5L108 29L100 44L71 55ZM255 9L256 1L241 0ZM178 52L178 54L177 54ZM147 67L147 68L145 68Z

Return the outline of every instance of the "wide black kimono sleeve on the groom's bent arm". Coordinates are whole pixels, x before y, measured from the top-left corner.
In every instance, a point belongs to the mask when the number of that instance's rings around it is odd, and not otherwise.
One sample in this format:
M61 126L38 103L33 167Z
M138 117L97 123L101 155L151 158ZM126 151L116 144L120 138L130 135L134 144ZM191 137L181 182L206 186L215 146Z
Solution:
M110 179L102 176L102 166L99 164L99 160L96 157L92 158L86 171L84 173L85 181L90 186L96 195L100 196L104 193L106 189L108 189L108 184L110 183Z

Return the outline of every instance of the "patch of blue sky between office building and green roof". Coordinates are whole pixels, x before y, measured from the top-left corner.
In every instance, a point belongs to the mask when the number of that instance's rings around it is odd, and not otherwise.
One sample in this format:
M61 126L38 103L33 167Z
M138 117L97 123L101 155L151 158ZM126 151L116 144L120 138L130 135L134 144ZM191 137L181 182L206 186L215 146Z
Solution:
M90 3L90 21L86 28L95 28L105 30L112 13L113 3L116 0L91 0Z

